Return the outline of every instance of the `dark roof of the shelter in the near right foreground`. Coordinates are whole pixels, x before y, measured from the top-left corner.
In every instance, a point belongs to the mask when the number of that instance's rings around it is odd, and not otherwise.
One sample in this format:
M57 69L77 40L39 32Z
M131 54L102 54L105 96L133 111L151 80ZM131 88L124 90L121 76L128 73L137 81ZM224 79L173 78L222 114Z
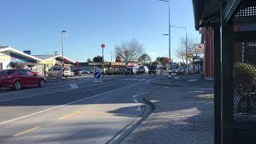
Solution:
M196 30L204 26L220 26L220 2L223 4L223 21L233 25L255 22L255 0L192 0L192 2Z

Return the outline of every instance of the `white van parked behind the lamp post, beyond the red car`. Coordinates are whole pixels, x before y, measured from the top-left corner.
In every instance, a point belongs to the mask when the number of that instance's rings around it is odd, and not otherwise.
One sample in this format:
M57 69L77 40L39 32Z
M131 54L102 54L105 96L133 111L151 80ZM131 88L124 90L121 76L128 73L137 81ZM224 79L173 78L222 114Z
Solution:
M50 77L73 77L74 72L70 70L70 66L64 66L64 73L62 71L62 67L59 66L53 66L49 69L49 74Z

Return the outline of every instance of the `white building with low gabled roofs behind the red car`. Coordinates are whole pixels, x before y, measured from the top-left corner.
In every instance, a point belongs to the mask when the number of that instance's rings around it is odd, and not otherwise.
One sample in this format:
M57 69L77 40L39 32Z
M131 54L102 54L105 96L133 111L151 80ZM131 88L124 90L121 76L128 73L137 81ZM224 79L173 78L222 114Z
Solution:
M62 55L30 55L15 50L11 46L0 46L0 70L29 69L43 75L51 66L62 66ZM64 57L65 66L73 66L74 61Z

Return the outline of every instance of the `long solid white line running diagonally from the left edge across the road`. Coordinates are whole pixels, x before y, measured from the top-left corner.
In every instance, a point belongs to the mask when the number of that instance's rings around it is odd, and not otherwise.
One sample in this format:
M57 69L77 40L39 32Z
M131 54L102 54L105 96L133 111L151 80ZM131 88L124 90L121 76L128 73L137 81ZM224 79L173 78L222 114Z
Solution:
M144 83L144 82L135 83L135 84L130 85L130 86L136 86L136 85L139 85L139 84L142 84L142 83ZM33 116L33 115L35 115L35 114L42 114L42 113L44 113L44 112L46 112L46 111L50 111L50 110L54 110L54 109L57 109L57 108L60 108L60 107L63 107L63 106L68 106L68 105L71 105L71 104L74 104L74 103L82 102L82 101L85 101L85 100L88 100L88 99L91 99L91 98L96 98L96 97L102 96L102 95L104 95L104 94L110 94L110 93L112 93L112 92L114 92L114 91L122 90L122 89L127 88L127 87L130 87L130 86L124 86L124 87L121 87L121 88L118 88L118 89L115 89L115 90L107 91L107 92L102 93L102 94L96 94L96 95L94 95L94 96L92 96L92 97L89 97L89 98L82 98L82 99L80 99L80 100L78 100L78 101L69 102L69 103L66 103L66 104L64 104L64 105L54 106L54 107L52 107L52 108L49 108L49 109L46 109L46 110L41 110L41 111L38 111L38 112L33 113L33 114L27 114L27 115L22 116L22 117L10 119L10 120L8 120L8 121L6 121L6 122L0 122L0 126L3 125L3 124L6 124L6 123L10 123L10 122L17 121L17 120L22 119L22 118L27 118L27 117Z

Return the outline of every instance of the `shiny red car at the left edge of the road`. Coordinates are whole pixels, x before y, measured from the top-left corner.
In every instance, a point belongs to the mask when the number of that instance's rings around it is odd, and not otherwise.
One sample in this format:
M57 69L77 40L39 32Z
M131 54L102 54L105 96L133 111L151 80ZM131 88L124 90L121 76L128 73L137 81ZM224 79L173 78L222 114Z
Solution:
M30 70L11 69L0 71L0 87L13 87L14 90L20 90L22 87L43 87L45 84L45 78L34 74Z

